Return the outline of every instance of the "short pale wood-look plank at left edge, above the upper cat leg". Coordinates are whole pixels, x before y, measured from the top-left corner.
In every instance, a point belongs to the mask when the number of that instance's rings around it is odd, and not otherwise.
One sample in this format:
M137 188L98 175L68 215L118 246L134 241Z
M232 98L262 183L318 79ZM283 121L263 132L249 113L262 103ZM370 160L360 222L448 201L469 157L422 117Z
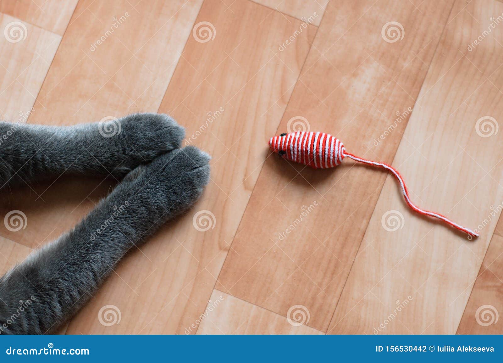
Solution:
M0 118L26 122L61 37L2 13L0 29Z

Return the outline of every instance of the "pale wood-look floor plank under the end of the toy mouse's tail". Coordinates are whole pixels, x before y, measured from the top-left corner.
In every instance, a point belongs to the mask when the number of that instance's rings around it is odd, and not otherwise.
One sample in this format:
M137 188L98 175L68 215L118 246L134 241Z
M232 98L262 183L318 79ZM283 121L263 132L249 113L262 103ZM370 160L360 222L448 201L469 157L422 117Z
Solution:
M388 179L328 333L456 332L497 219L483 221L503 199L503 136L477 123L503 115L503 33L467 48L502 12L496 2L455 3L393 160L418 204L481 236L418 217Z

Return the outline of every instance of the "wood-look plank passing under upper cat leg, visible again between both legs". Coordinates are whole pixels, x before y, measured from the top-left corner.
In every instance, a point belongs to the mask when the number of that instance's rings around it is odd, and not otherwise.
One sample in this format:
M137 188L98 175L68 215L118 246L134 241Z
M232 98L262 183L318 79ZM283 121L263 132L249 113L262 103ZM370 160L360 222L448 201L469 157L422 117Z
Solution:
M28 122L75 124L135 111L156 112L201 4L202 0L157 1L132 8L127 1L79 2ZM110 29L113 32L107 33ZM102 36L105 40L91 51ZM37 76L42 82L44 75ZM21 210L28 225L12 232L0 224L0 235L29 247L47 243L74 226L114 183L113 178L63 175L4 194L0 215Z

